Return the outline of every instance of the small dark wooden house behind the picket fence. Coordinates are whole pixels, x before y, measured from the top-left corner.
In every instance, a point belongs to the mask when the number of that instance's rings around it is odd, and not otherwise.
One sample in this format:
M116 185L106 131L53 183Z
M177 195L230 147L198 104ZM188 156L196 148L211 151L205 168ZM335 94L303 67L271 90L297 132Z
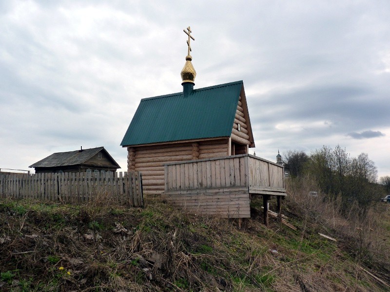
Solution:
M120 166L104 147L58 152L30 165L40 172L117 171Z

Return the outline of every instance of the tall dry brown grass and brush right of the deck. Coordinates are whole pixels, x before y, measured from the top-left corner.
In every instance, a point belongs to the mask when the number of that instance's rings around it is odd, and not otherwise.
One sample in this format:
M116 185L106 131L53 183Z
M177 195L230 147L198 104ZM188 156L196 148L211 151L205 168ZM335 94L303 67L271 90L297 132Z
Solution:
M384 228L386 224L390 226L390 220L385 219L387 206L378 202L364 210L352 201L348 214L343 214L339 199L331 201L320 192L317 197L308 195L319 189L309 177L288 180L286 188L294 212L318 222L324 231L336 237L339 248L355 260L357 274L364 273L361 266L367 266L375 269L374 274L380 278L390 281L390 229Z

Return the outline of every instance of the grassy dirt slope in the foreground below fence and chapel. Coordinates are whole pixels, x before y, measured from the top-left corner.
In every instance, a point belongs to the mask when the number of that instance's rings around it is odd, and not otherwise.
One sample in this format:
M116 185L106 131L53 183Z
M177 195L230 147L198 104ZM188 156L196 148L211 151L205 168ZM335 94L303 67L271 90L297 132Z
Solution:
M235 220L188 215L157 200L143 209L0 199L1 291L389 291L344 239L288 200L297 230L261 203ZM363 268L365 270L363 270ZM387 282L386 282L387 281Z

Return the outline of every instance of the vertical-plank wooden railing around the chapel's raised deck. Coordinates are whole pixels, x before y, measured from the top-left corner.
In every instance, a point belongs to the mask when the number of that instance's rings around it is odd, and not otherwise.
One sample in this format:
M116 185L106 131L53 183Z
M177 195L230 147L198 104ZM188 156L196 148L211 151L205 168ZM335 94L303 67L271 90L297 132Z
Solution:
M282 195L283 166L250 154L165 165L165 192L238 186L249 187L250 193Z

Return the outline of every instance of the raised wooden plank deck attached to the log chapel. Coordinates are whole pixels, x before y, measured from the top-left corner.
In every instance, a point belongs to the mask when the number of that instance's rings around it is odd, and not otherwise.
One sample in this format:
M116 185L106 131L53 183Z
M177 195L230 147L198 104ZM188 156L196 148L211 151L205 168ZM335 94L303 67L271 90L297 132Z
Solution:
M251 195L286 196L283 167L250 154L165 164L163 199L192 213L249 218Z

